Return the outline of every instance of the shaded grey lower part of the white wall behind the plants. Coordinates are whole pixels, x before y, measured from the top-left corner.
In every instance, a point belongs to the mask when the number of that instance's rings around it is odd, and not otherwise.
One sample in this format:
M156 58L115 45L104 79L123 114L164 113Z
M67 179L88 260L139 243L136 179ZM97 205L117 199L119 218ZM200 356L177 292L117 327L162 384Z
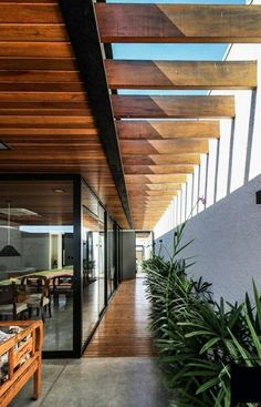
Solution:
M261 291L261 205L255 204L259 190L261 175L188 221L184 242L195 242L181 256L196 256L191 272L213 284L217 299L242 299L244 292L252 289L252 278ZM156 251L163 240L163 253L171 253L173 235L169 231L158 237Z

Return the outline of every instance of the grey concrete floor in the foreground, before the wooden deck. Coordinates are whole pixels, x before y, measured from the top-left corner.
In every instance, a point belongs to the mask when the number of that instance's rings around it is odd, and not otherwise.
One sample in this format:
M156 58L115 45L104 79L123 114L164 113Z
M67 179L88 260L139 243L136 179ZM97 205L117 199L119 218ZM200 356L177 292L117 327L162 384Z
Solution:
M9 407L168 407L156 358L44 360L42 394L32 383Z

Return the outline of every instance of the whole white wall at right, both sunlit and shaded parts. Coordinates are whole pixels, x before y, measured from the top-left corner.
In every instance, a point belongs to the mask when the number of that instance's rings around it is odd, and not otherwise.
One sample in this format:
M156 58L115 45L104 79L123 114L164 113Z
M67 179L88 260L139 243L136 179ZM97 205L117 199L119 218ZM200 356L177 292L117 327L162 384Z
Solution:
M207 199L207 208L199 203L188 225L188 235L196 238L189 248L189 254L197 255L195 273L213 283L216 297L232 301L250 289L252 277L261 291L261 207L254 194L261 190L261 44L233 44L225 59L257 61L258 89L210 92L234 95L236 119L220 120L219 154L217 141L211 140L209 154L201 156L199 189L188 177L186 213L188 217L191 191L198 189L199 196ZM177 201L171 203L178 220L174 226L180 223ZM154 230L157 242L163 238L168 250L174 226L169 227L166 212Z

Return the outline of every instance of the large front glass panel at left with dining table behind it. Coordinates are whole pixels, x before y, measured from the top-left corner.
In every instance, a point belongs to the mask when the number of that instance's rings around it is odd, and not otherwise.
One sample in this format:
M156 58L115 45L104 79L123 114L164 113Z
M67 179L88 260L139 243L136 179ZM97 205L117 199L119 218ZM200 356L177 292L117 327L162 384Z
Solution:
M72 180L0 180L0 318L42 318L49 352L73 349L73 242Z

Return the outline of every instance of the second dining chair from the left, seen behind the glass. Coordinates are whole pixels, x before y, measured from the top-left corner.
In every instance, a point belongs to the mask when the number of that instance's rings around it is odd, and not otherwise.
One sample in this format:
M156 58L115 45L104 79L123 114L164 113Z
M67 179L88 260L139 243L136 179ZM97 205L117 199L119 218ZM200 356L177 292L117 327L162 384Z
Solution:
M30 275L21 279L19 287L20 295L27 296L27 304L30 316L33 309L36 309L38 315L41 316L44 323L44 309L48 307L49 316L52 316L51 298L48 279L44 276Z

